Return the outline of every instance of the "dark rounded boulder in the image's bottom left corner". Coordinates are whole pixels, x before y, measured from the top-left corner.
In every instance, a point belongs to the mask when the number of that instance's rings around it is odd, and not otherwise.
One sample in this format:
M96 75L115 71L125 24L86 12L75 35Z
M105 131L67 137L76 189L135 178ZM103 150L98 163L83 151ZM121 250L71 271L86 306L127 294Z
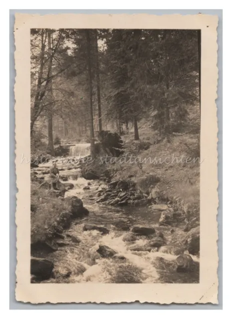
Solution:
M30 259L30 274L34 275L38 281L51 278L53 268L54 264L48 259L35 257Z

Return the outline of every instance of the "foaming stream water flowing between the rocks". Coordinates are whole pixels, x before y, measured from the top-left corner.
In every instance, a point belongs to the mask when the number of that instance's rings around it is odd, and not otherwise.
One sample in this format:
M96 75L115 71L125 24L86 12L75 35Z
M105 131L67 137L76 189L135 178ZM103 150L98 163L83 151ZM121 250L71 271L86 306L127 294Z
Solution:
M50 164L51 165L51 164ZM48 164L40 164L36 170L38 175L43 175ZM82 199L84 206L89 210L89 215L83 219L74 219L66 234L74 235L80 243L70 240L67 246L59 247L50 253L47 258L53 261L55 270L61 277L44 281L44 283L198 283L199 259L191 256L198 264L194 272L177 273L175 259L177 255L172 252L139 251L135 247L143 247L149 239L146 236L137 236L135 242L123 241L123 236L130 233L133 225L153 226L164 234L166 245L171 245L174 234L180 229L159 226L161 212L154 213L151 207L114 207L96 203L96 193L99 189L106 189L107 185L98 180L86 180L78 177L79 169L57 162L57 167L64 170L61 175L68 175L67 182L73 183L74 188L66 191L66 196L75 195ZM68 168L68 169L66 169ZM77 178L77 179L76 179ZM89 185L90 189L83 187ZM84 224L94 224L106 227L108 234L101 234L97 230L83 231ZM64 233L65 235L65 233ZM99 245L106 245L118 254L113 258L102 258L97 249ZM161 247L162 248L162 247ZM68 274L68 275L67 275Z

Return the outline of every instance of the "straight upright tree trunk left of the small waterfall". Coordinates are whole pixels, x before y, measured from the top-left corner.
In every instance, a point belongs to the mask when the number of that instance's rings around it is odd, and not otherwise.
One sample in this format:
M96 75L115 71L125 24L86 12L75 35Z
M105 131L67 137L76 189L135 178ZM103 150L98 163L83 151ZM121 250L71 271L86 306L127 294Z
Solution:
M47 45L48 45L48 55L49 55L49 66L48 69L51 70L51 64L52 64L52 51L51 51L51 30L48 29L47 30ZM50 75L52 72L50 71ZM49 86L48 86L48 92L47 92L47 96L48 99L50 100L50 102L52 102L52 81L49 82ZM48 109L48 145L47 148L50 152L51 156L54 156L54 145L53 145L53 129L52 129L52 104L50 105L49 109Z

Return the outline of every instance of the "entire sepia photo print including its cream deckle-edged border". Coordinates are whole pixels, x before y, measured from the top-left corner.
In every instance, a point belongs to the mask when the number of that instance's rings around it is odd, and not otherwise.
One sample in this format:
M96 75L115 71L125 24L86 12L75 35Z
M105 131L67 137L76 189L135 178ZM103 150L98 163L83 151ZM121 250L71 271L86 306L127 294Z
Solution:
M219 303L217 27L15 14L17 302Z

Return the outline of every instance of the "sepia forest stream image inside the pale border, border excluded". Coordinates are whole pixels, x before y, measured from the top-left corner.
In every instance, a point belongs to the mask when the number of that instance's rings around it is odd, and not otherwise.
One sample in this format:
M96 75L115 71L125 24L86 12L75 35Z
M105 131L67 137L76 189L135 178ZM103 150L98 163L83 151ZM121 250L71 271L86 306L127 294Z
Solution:
M201 30L30 29L30 282L200 282Z

